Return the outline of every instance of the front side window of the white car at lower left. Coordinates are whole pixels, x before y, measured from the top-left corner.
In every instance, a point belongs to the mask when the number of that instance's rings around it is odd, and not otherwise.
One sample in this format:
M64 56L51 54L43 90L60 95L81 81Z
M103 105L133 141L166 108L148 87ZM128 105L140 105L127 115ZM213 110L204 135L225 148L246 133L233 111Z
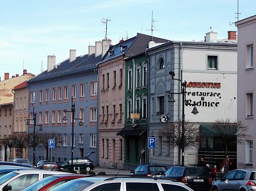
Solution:
M18 191L32 185L36 181L38 181L38 174L25 174L8 183L8 186L12 186L12 191Z

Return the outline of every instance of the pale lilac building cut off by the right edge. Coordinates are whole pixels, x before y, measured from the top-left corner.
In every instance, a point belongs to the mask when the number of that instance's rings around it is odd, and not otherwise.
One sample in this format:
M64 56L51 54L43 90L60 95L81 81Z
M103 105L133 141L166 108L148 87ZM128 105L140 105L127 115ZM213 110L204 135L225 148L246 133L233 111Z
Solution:
M248 126L242 144L237 144L237 167L256 166L256 15L236 22L238 32L237 67L237 120Z

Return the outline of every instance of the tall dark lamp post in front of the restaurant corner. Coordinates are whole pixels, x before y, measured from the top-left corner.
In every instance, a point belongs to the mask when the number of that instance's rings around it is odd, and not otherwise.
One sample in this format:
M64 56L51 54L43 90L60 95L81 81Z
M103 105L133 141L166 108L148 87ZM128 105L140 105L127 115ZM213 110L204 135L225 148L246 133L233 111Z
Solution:
M181 82L180 89L181 92L179 93L171 93L171 94L181 94L182 95L182 130L181 130L181 165L184 165L184 152L185 152L185 102L186 102L186 80L182 82L182 70L181 70L181 79L175 79L175 73L169 72L172 75L173 80L179 80ZM173 97L170 98L170 102L175 102ZM193 111L191 112L194 115L198 114L199 112L196 109L196 105L194 105Z

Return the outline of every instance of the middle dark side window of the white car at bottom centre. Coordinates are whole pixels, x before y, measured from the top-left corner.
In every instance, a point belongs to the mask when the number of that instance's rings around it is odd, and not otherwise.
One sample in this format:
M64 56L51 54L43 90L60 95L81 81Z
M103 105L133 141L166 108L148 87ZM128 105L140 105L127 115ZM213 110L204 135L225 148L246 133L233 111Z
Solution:
M157 183L126 183L126 191L159 191Z

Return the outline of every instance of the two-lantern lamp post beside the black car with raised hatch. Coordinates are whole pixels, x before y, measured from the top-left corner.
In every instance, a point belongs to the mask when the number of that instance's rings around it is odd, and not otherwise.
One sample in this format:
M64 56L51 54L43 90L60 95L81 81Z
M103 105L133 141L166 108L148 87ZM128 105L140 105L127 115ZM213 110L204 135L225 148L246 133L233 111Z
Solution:
M73 96L71 97L71 111L66 111L66 112L72 112L72 133L71 133L71 171L73 171L73 158L74 158L74 121L75 119L75 112L76 112L76 103L73 103ZM77 119L80 120L78 125L82 126L83 125L83 119ZM63 121L67 121L67 116L65 115L63 117Z

